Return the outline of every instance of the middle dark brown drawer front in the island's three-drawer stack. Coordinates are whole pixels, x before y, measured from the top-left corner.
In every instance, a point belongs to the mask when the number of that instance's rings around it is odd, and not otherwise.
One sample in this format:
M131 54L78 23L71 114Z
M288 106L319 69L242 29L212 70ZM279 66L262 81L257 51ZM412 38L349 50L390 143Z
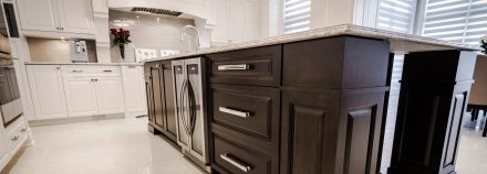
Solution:
M211 90L214 122L278 142L279 89L213 84Z

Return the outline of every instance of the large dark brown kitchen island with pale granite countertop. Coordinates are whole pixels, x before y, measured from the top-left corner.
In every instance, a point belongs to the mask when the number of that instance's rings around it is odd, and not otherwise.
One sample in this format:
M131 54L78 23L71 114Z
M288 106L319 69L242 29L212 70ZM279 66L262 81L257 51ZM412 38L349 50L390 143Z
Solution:
M405 54L388 173L455 173L475 52L344 24L162 57L144 65L149 130L176 141L172 61L203 57L211 172L379 173L392 59Z

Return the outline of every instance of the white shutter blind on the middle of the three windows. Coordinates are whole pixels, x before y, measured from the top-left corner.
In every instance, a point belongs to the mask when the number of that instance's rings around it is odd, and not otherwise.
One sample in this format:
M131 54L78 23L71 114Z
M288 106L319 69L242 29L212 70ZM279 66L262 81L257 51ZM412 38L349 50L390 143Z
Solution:
M377 28L403 33L413 32L416 0L381 0Z

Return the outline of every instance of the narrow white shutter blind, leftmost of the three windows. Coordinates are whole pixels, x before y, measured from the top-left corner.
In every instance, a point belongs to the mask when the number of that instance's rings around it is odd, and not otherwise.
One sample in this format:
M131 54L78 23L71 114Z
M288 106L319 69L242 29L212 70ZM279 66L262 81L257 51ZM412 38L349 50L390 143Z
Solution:
M294 33L310 30L311 0L283 0L283 31Z

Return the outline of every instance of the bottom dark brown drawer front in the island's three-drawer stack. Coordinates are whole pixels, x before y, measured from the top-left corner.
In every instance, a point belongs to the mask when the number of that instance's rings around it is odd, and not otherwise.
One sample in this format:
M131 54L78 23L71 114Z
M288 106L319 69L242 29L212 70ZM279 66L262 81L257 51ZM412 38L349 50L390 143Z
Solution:
M268 174L277 173L278 168L271 165L272 157L214 134L215 151L214 165L220 173L232 174Z

